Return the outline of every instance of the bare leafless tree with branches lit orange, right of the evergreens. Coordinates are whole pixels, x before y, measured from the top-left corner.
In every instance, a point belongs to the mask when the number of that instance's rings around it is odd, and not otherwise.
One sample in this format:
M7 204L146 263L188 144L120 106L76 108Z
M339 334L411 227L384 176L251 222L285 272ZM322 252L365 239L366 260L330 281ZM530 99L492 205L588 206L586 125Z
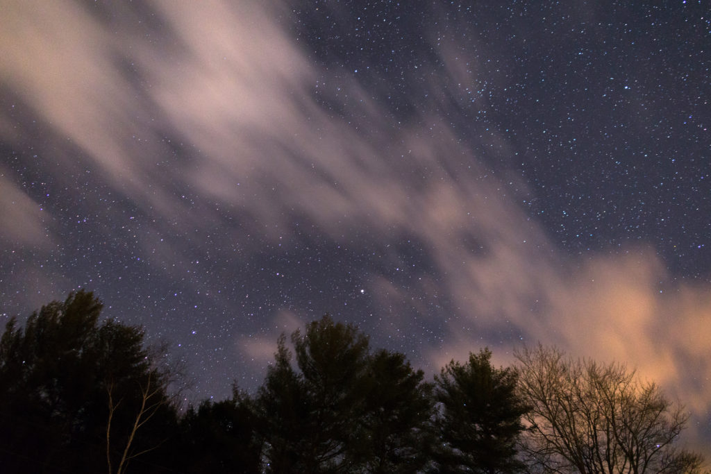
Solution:
M533 410L525 453L552 473L695 473L701 456L675 447L688 414L634 370L525 348L520 393Z

